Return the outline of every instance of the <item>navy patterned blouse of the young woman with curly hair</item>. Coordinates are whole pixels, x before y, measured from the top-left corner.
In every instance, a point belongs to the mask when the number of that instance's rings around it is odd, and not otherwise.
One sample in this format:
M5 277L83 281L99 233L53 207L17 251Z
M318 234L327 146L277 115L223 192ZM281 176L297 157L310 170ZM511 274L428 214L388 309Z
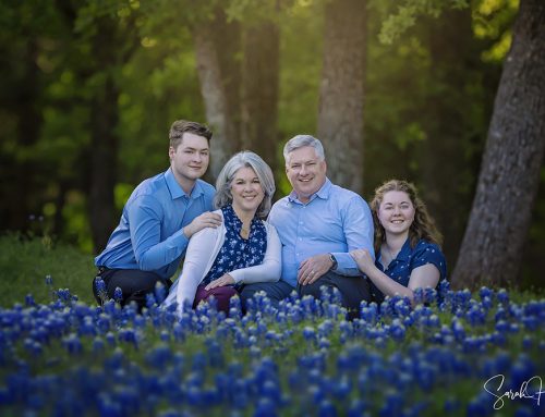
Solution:
M388 265L386 270L382 263L380 253L377 254L375 260L375 266L380 271L404 286L409 285L412 270L426 263L435 265L439 270L439 282L447 277L447 265L441 249L439 246L424 240L419 241L414 248L411 248L411 244L409 240L407 240L396 259ZM371 295L378 304L384 301L384 294L373 284L373 282L371 282Z

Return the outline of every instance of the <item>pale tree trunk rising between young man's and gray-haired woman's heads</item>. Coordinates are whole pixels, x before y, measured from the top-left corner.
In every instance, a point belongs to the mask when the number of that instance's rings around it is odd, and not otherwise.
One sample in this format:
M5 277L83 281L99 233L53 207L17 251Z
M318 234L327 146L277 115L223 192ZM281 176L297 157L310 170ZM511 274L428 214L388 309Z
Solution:
M213 22L193 30L206 120L214 132L208 169L211 180L240 147L240 68L235 61L239 36L239 25L227 23L220 11Z

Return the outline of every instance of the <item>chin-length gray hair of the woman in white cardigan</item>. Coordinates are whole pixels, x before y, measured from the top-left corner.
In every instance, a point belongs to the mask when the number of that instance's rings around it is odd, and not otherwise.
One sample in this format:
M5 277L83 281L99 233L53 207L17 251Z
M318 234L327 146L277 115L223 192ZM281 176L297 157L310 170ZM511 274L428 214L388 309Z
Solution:
M219 209L233 201L231 194L231 183L234 174L241 168L252 168L259 179L265 197L262 204L257 207L256 217L265 219L270 211L272 195L275 194L275 177L270 167L257 154L250 150L243 150L234 155L221 169L216 181L216 196L214 197L214 206Z

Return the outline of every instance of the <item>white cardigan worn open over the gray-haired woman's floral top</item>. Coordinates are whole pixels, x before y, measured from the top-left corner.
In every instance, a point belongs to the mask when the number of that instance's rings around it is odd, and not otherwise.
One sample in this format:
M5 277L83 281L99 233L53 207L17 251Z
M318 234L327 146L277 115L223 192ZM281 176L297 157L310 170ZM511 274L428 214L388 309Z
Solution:
M223 219L221 210L214 211ZM264 221L267 231L267 250L263 263L254 267L235 269L228 272L235 283L275 282L280 279L282 272L282 245L274 225ZM168 306L178 303L178 311L183 311L184 302L193 304L198 284L210 270L216 257L223 246L227 229L225 221L218 228L206 228L195 233L187 245L182 273L170 287L169 294L164 302Z

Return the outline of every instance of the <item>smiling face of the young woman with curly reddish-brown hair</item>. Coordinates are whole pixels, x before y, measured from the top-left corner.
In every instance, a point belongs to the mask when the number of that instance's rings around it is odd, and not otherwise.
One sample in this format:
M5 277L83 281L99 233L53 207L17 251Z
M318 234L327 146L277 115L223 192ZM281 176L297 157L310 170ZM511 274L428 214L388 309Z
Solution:
M397 191L385 193L377 212L378 220L387 234L409 234L414 214L414 205L409 194Z

